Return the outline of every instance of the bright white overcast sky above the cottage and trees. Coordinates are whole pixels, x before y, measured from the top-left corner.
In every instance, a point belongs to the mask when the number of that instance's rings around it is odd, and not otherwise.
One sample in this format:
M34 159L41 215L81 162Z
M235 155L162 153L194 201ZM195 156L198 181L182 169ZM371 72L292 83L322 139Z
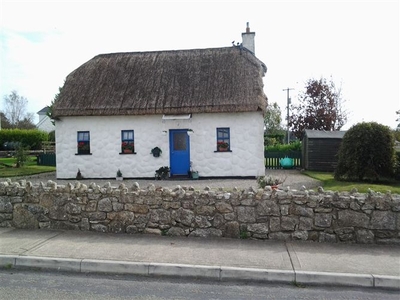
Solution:
M73 70L102 53L231 47L246 23L265 63L264 92L298 104L309 79L341 88L348 121L395 128L399 1L0 0L0 110L15 90L28 112L50 105Z

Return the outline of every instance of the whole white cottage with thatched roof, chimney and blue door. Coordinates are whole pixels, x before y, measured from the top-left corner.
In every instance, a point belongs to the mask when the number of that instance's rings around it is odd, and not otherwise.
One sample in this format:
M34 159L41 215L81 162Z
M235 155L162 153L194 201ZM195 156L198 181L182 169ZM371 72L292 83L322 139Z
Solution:
M57 178L264 174L266 66L254 32L226 48L102 54L66 78L53 107Z

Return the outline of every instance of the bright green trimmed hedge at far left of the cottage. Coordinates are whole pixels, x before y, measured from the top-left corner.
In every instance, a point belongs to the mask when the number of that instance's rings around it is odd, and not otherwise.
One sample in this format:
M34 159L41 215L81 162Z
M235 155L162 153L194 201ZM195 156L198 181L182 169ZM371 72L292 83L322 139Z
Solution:
M30 150L40 150L43 141L48 140L48 133L37 129L3 129L0 130L0 150L15 150L22 146ZM7 144L14 149L7 149Z

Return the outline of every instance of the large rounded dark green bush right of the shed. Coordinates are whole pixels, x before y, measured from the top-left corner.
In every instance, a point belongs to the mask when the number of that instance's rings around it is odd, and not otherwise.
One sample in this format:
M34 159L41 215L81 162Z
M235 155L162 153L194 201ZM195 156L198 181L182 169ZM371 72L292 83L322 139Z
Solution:
M393 178L394 137L390 128L375 122L351 127L339 149L336 180L379 182Z

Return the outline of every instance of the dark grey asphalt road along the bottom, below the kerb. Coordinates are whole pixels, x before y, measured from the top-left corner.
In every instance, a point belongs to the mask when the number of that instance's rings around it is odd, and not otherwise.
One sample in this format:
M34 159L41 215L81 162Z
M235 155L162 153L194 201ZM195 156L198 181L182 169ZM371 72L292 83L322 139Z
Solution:
M284 284L215 283L182 278L0 270L0 298L46 299L396 299L398 291Z

